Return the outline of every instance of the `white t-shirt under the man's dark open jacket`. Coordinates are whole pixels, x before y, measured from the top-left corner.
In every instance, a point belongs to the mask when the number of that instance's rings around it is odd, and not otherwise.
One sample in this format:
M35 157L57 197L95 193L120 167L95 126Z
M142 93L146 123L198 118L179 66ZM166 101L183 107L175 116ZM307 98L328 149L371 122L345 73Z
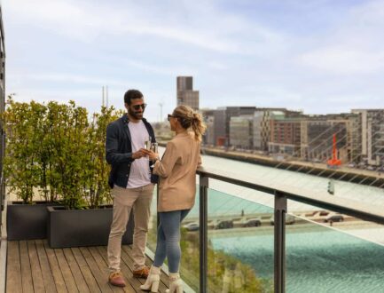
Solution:
M132 153L140 148L145 148L145 140L149 138L145 123L140 120L138 123L128 123L130 139L132 143ZM127 188L137 188L147 186L151 183L151 170L149 169L148 157L134 160L130 164L130 173Z

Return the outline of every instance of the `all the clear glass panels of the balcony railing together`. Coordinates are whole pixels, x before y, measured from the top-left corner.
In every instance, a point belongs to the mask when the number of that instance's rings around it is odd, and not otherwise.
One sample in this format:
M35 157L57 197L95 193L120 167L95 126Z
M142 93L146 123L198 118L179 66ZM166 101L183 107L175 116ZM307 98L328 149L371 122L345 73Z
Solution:
M259 192L262 193L260 189ZM280 222L277 227L274 222L277 205L270 208L255 200L241 198L247 193L236 194L231 189L231 194L227 194L212 188L207 188L206 192L207 273L202 286L201 276L204 274L201 274L200 256L204 232L201 229L200 193L198 186L195 206L184 219L182 228L180 273L190 289L196 292L378 292L382 289L384 246L341 231L367 227L368 222L334 212L327 214L321 208L307 212L294 210L294 214L285 214L285 225L280 233L284 238L277 238L275 230L282 225ZM271 196L269 191L263 194ZM306 203L310 203L308 201ZM349 207L345 209L350 210ZM355 215L359 212L353 210ZM380 212L374 212L373 218L380 219ZM366 212L361 213L365 218L371 217ZM337 217L330 221L332 215ZM151 222L148 248L154 251L156 192ZM374 227L372 233L384 233L382 225L374 224ZM277 290L276 245L279 242L283 242L284 249L280 255L283 259L280 280L284 287Z

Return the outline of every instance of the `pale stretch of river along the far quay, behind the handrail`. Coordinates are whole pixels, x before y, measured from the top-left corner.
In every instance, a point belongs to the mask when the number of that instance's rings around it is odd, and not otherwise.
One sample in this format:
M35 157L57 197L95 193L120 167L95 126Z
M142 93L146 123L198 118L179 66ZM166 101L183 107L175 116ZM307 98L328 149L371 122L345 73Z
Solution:
M247 162L223 159L219 157L203 155L203 166L216 170L224 170L235 175L255 179L266 186L281 187L291 191L317 194L318 197L329 195L326 190L329 179L307 175L289 170L264 167ZM364 202L372 206L384 206L384 189L372 186L358 185L345 181L334 180L334 196L349 199L353 202ZM234 194L253 202L259 202L273 207L273 197L255 190L233 186L216 180L209 181L209 187L227 194ZM288 201L288 210L313 210L314 208L300 203ZM318 210L318 208L315 208Z

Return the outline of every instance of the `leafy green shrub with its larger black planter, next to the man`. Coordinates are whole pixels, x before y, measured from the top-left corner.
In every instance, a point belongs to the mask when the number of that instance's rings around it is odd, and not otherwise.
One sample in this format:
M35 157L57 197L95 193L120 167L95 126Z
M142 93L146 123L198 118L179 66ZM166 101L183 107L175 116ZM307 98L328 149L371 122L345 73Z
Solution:
M114 108L102 107L88 123L86 113L74 111L67 123L65 162L62 172L63 207L49 207L48 242L51 248L106 245L113 209L107 186L109 166L105 160L106 126L117 118ZM82 129L83 131L78 131ZM76 131L77 130L77 131ZM75 141L75 142L74 142ZM72 174L75 176L66 176ZM133 218L130 218L122 242L132 243Z

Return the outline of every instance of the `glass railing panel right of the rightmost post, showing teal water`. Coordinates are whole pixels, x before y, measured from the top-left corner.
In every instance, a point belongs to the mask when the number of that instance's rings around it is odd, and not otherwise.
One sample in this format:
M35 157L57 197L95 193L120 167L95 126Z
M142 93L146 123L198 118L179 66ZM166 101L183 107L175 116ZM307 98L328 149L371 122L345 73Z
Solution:
M286 292L381 292L384 246L339 230L363 223L369 229L369 223L329 217L295 217L294 225L286 226Z

